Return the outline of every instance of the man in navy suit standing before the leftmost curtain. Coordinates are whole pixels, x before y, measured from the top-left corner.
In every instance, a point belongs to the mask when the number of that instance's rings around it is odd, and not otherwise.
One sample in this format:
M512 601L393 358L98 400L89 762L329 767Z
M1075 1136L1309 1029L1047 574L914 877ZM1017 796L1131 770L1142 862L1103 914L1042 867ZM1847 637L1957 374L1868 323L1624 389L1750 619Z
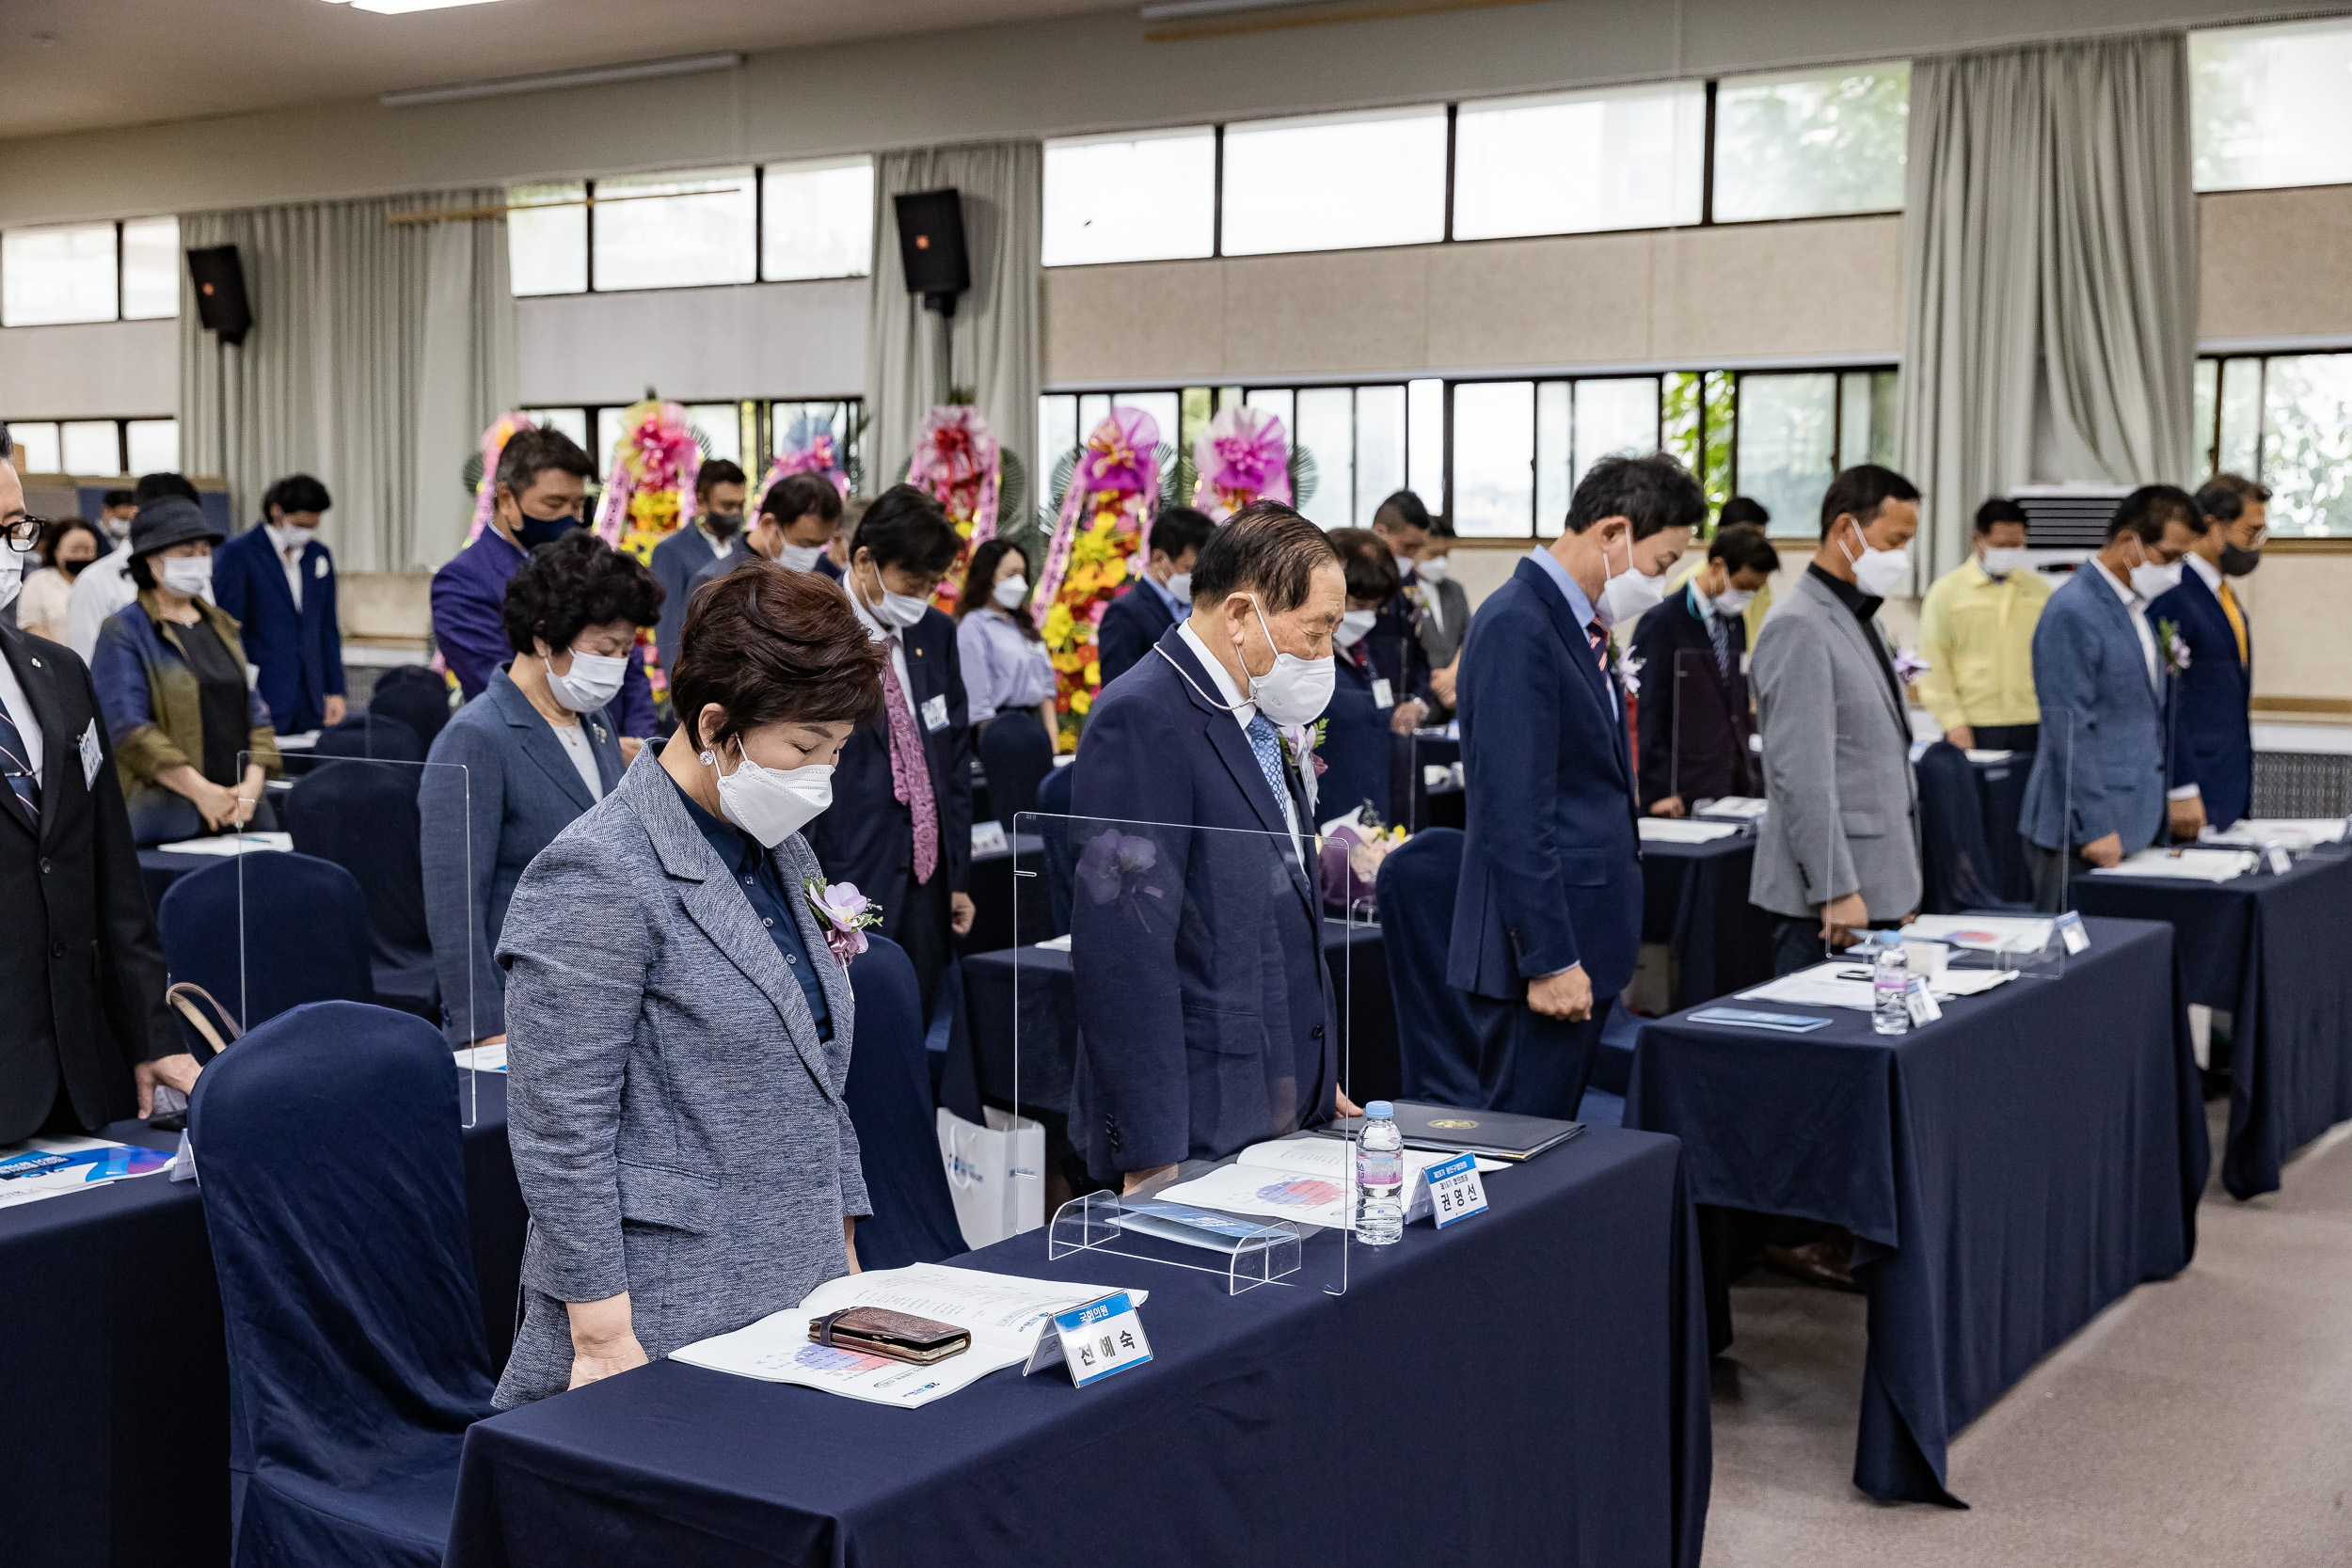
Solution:
M287 475L261 496L261 522L212 552L212 602L238 621L280 736L343 722L334 557L318 543L329 505L325 484Z

